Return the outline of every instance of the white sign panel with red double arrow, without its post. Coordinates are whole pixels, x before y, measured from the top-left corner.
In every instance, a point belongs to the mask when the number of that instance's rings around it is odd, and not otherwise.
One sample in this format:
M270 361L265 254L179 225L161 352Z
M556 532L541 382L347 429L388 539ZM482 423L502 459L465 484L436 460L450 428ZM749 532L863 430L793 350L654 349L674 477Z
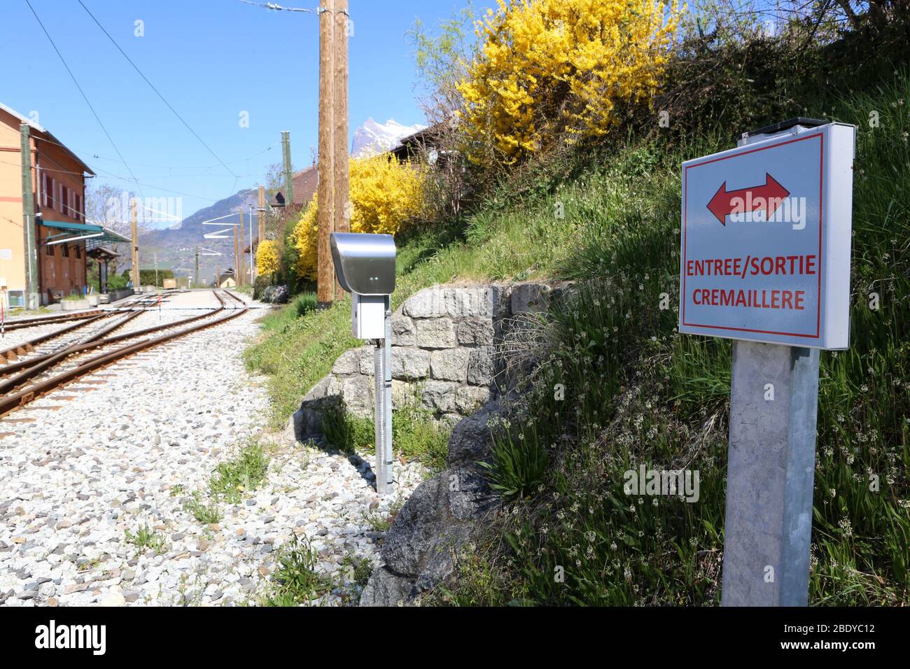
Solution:
M854 133L800 128L683 163L681 332L848 347Z

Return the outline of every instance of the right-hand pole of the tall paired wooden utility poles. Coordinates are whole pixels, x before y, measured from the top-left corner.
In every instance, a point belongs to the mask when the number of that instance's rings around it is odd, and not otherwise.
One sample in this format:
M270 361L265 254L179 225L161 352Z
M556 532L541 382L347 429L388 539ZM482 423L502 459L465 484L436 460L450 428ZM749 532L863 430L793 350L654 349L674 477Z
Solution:
M335 232L350 232L348 165L348 0L335 0ZM329 256L329 259L330 256ZM335 297L344 295L336 282Z

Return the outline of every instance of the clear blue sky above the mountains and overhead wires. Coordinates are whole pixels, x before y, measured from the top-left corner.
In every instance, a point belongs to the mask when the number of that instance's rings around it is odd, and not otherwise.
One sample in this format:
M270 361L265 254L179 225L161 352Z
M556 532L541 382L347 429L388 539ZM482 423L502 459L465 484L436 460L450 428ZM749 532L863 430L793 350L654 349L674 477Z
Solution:
M237 0L83 0L171 106L227 163L230 176L136 74L76 0L31 0L117 148L151 197L183 197L183 213L265 178L289 130L295 167L318 135L319 23ZM417 75L405 33L436 25L467 0L349 0L350 130L368 117L420 123ZM281 0L316 7L318 0ZM480 9L490 2L475 2ZM4 0L0 102L38 120L98 173L131 188L91 110L25 0ZM136 20L145 35L134 35ZM249 127L240 127L248 112ZM116 177L115 177L116 176ZM135 188L135 187L133 187Z

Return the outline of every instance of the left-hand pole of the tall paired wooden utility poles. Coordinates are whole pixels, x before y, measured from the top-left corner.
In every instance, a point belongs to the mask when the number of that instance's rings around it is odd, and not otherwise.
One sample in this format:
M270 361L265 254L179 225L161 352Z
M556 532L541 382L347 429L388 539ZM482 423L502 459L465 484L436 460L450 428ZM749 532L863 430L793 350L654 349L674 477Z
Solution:
M331 233L335 228L335 2L319 0L319 245L317 301L325 309L335 301ZM347 141L345 141L347 146Z

